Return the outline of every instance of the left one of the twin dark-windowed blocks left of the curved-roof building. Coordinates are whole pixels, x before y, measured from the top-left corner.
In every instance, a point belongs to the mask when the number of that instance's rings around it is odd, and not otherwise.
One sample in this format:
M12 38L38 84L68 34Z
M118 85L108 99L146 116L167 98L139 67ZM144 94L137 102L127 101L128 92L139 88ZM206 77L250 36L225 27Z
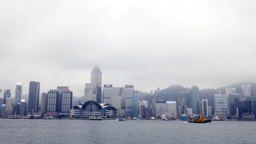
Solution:
M58 91L50 89L47 93L47 115L57 115Z

